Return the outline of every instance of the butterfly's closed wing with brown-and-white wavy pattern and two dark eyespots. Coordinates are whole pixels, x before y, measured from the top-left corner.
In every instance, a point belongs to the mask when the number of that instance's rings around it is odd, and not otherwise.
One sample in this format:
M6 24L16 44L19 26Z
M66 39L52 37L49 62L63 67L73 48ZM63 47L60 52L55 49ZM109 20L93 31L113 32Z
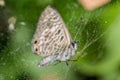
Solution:
M42 56L63 53L70 45L70 34L60 14L48 6L41 14L33 39L33 51Z

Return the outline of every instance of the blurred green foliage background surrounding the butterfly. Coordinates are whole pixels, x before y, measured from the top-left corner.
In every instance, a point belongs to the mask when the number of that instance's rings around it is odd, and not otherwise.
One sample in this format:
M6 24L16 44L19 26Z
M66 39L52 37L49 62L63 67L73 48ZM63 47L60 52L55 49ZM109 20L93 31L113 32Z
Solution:
M76 0L5 0L0 7L0 80L120 80L120 1L86 11ZM79 59L39 68L31 40L38 18L51 5L61 14ZM15 31L7 20L17 19ZM81 55L80 55L81 54Z

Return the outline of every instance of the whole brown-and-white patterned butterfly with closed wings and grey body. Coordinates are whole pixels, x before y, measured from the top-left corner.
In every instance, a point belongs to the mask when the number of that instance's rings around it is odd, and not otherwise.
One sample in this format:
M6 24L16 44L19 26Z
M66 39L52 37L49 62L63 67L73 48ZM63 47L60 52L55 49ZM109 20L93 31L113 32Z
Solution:
M41 13L32 40L32 50L43 59L39 67L54 61L68 61L75 55L78 43L73 41L57 10L47 6Z

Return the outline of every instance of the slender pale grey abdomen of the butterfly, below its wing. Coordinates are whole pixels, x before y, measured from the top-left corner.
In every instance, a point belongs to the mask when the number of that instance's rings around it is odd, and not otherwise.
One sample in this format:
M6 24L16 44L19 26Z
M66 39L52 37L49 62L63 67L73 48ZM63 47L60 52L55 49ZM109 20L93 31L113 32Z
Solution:
M39 67L41 66L46 66L51 64L52 62L54 62L56 60L56 55L52 55L52 56L48 56L43 58L43 60L38 64Z

